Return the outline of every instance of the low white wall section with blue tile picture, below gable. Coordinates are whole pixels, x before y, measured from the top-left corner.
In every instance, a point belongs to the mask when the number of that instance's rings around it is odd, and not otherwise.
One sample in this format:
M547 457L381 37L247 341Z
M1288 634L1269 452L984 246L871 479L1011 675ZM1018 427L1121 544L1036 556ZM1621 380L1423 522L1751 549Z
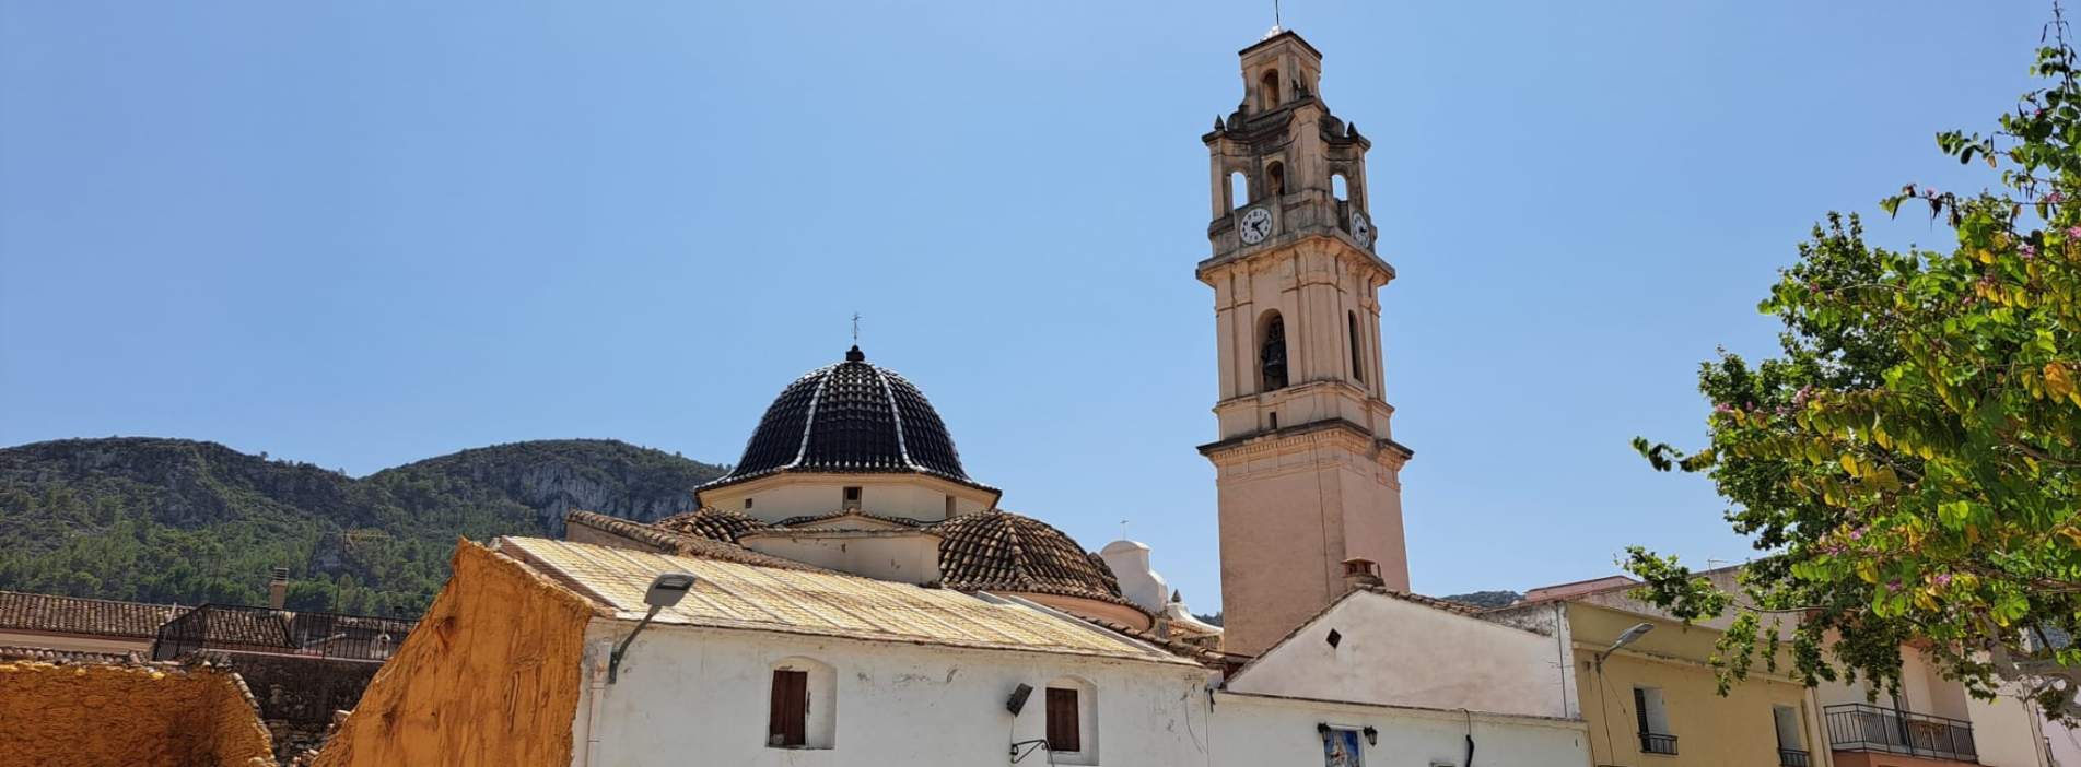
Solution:
M1467 767L1469 734L1473 736L1475 765L1584 767L1590 763L1582 721L1215 692L1213 759L1209 765L1321 765L1317 723L1380 730L1380 742L1363 746L1365 767Z

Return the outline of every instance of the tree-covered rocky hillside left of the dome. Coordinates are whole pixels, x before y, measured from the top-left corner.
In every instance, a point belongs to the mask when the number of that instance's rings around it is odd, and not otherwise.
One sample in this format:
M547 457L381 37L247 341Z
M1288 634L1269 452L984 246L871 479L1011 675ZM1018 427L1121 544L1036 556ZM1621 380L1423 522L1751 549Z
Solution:
M148 603L418 613L458 536L562 534L568 509L656 520L722 468L616 441L493 445L366 478L183 439L0 449L0 588Z

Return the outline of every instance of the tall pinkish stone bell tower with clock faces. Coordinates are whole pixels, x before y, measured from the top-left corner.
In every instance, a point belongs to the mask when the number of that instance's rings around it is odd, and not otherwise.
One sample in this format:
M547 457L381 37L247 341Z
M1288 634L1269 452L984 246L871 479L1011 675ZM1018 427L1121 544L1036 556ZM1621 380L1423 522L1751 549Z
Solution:
M1380 362L1380 289L1359 129L1321 102L1321 52L1276 31L1240 52L1242 104L1211 164L1224 649L1261 653L1344 594L1346 561L1409 588L1401 470ZM1365 567L1355 563L1355 567Z

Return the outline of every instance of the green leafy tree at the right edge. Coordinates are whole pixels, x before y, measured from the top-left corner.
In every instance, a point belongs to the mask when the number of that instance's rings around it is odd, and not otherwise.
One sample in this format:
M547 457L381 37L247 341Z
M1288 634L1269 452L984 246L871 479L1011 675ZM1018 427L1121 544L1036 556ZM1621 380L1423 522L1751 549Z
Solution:
M1806 684L1898 688L1917 640L1979 696L2002 682L2081 717L2081 85L2054 10L2044 87L1992 135L1937 148L1994 187L1908 185L1887 214L1927 210L1948 249L1892 252L1829 214L1761 310L1781 355L1721 353L1698 387L1711 445L1636 447L1713 478L1727 520L1767 555L1740 594L1642 549L1642 594L1686 619L1733 611L1723 688L1763 663ZM1796 624L1796 626L1794 626Z

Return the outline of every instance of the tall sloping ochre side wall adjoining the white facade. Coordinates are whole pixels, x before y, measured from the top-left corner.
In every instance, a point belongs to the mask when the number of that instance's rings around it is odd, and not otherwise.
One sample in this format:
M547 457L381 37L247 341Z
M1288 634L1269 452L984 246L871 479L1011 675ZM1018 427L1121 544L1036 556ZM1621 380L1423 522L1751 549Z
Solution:
M316 767L568 767L593 609L462 540L454 576Z

